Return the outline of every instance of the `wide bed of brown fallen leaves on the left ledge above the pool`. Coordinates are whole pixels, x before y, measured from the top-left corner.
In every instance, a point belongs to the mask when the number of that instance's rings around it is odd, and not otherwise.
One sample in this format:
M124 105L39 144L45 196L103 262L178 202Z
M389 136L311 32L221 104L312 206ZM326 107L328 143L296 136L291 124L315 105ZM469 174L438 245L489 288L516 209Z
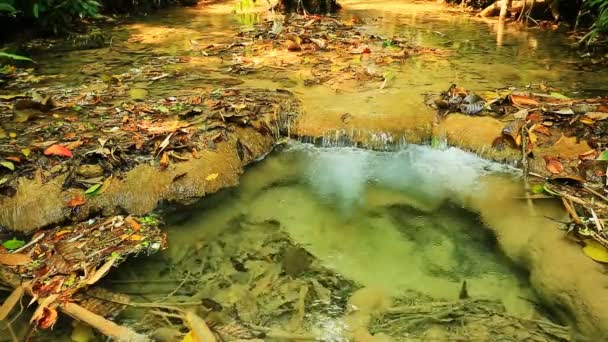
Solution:
M236 127L276 137L298 113L286 91L216 88L153 97L134 86L170 76L152 66L74 88L58 84L0 94L0 196L14 195L17 179L39 170L45 178L67 174L64 188L93 194L104 179L136 165L163 170L198 158ZM13 90L27 86L19 83L26 77L17 78ZM239 151L242 158L248 154L246 147Z

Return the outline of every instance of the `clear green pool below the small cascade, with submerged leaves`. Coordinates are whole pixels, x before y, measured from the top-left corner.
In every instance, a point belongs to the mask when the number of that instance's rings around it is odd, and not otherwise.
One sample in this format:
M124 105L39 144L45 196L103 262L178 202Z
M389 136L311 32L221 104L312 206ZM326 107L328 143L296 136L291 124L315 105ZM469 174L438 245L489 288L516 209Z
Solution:
M310 291L310 279L325 279L311 270L303 271L307 276L290 274L287 263L297 266L305 258L295 253L289 259L293 248L267 251L265 241L285 234L310 253L316 268L369 289L367 301L411 293L456 301L466 281L471 298L498 302L516 317L537 317L538 299L526 274L502 254L479 217L459 204L495 191L483 181L488 175L516 177L508 167L454 148L412 145L373 152L295 143L248 168L237 188L170 214L169 249L127 262L105 285L136 301L205 298L224 308L224 320L305 331L321 340L348 339L353 323L336 304L351 300L347 288L333 292L338 298L325 311L307 301L304 322L259 318L265 305L282 307L260 292L272 286L261 285L267 278L274 279L271 284L304 281ZM275 254L261 261L260 255ZM300 291L278 289L283 299ZM332 310L334 315L326 313Z

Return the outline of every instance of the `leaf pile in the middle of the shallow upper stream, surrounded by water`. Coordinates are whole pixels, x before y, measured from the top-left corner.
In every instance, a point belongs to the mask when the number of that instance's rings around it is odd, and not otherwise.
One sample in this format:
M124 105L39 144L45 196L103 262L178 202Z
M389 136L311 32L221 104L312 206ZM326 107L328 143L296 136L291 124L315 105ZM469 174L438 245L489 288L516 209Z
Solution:
M377 81L382 87L410 55L440 53L401 37L364 33L360 24L355 18L346 22L325 16L275 18L239 33L231 43L209 45L202 52L232 58L228 71L236 74L310 69L306 85L354 80Z

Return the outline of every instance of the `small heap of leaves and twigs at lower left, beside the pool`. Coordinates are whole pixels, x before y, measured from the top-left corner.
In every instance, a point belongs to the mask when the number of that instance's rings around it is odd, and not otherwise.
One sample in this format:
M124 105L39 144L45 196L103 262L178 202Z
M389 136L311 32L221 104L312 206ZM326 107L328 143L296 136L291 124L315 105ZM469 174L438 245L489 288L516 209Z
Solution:
M0 264L12 269L38 300L33 321L49 328L56 307L73 300L81 289L97 283L128 255L152 254L166 247L165 234L151 217L114 216L69 227L42 230L29 243L8 240Z

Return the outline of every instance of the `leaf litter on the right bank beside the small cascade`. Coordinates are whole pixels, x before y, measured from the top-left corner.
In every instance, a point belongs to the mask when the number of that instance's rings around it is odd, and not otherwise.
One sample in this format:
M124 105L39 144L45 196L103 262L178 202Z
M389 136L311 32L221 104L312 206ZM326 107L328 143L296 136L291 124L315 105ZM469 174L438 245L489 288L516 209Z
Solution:
M505 122L495 149L516 149L531 179L531 196L561 197L567 225L594 260L608 262L608 97L575 99L545 85L475 94L453 85L427 102L440 117L460 112ZM567 140L587 144L578 156L553 148ZM563 146L568 146L564 144Z

